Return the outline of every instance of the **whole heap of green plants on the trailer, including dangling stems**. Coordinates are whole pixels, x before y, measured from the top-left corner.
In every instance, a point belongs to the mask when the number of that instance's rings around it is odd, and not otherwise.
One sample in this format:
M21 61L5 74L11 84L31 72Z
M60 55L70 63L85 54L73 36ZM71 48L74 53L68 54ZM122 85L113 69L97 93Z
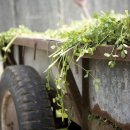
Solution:
M78 65L79 59L84 54L93 55L99 45L113 45L113 50L116 49L110 54L104 54L110 58L108 65L111 68L115 66L116 57L125 58L127 56L127 47L130 44L130 15L128 11L125 11L125 14L102 12L100 15L95 14L91 20L73 22L71 25L64 25L60 29L47 30L43 33L31 32L20 26L0 33L0 51L8 52L15 38L25 34L34 35L34 37L40 35L43 38L57 38L64 41L64 44L56 46L57 50L49 56L52 59L52 64L48 67L48 70L54 65L60 68L60 74L55 83L57 89L61 91L60 93L57 91L56 100L60 101L59 105L64 109L63 97L66 93L66 87L68 87L66 76L70 64ZM91 75L89 70L85 71L85 77ZM98 84L96 79L95 84Z

